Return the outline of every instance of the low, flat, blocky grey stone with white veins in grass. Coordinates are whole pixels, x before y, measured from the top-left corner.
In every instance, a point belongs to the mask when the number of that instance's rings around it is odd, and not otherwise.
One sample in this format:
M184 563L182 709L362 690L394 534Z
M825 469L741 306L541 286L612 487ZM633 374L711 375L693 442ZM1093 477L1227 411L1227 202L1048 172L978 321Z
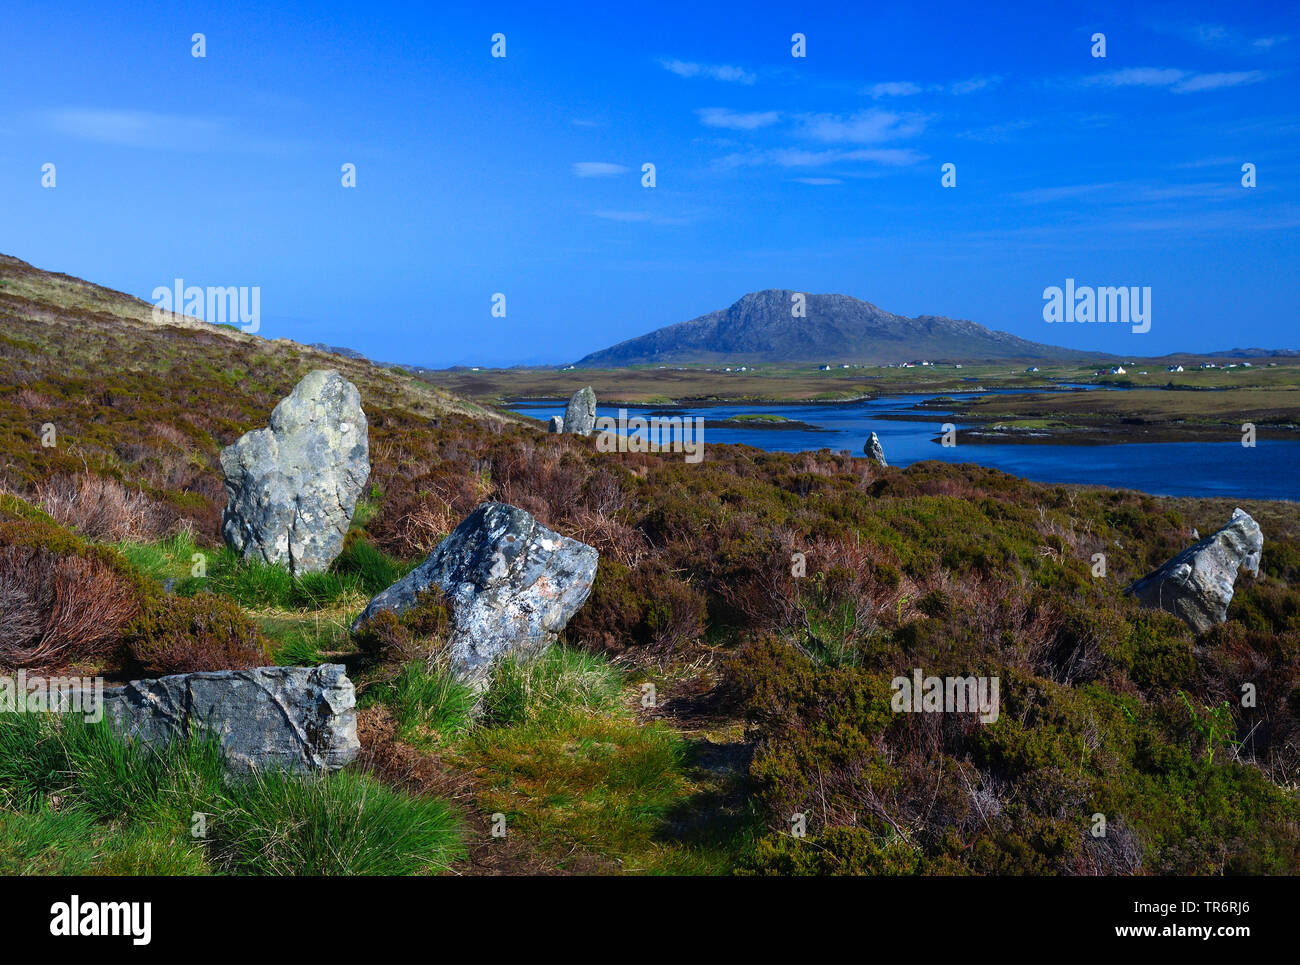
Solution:
M235 773L330 771L361 749L356 694L339 663L133 680L107 688L103 707L109 724L133 741L161 745L212 734Z

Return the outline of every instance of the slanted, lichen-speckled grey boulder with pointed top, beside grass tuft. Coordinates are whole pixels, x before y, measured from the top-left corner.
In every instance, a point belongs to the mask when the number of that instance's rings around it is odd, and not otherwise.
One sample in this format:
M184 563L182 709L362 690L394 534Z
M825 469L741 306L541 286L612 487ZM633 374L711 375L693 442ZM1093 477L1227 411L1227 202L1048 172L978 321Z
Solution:
M484 689L499 658L541 653L555 641L586 602L598 558L595 548L547 529L521 509L485 502L428 559L374 597L354 629L381 610L400 615L437 584L451 610L451 668Z

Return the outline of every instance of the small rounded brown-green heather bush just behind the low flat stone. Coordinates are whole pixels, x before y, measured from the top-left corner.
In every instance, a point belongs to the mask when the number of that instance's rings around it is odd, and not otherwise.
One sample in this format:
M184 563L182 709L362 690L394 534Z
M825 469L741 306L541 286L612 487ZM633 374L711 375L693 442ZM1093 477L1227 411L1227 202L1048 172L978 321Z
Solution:
M238 605L200 593L151 601L126 628L126 646L150 674L247 670L269 662L265 637Z

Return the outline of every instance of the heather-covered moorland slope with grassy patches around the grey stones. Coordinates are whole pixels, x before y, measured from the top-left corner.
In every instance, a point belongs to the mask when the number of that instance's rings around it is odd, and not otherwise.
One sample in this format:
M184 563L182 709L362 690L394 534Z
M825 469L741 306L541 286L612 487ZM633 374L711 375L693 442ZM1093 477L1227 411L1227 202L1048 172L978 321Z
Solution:
M478 867L498 848L497 867L533 871L1300 871L1294 503L1039 485L974 464L880 469L824 450L710 445L699 464L602 454L330 358L361 389L369 496L332 568L295 579L221 546L216 459L321 358L61 319L10 315L0 336L0 663L117 678L346 663L367 749L335 780L338 801L324 786L268 784L231 805L239 827L302 809L332 834L332 815L364 799L381 815L373 840L389 840L404 821L441 827L419 812L429 799L460 815L447 834L468 848L420 845L441 866ZM47 423L56 446L40 445ZM601 562L563 642L502 667L476 709L439 668L439 601L350 627L485 499ZM1235 506L1265 548L1226 623L1197 637L1122 596ZM892 713L890 680L916 667L998 678L997 720ZM81 827L31 776L62 765L31 767L8 778L5 826L29 844L6 866L47 866L51 828ZM77 834L118 834L105 817L118 805L91 808ZM309 848L250 860L169 858L317 867Z

